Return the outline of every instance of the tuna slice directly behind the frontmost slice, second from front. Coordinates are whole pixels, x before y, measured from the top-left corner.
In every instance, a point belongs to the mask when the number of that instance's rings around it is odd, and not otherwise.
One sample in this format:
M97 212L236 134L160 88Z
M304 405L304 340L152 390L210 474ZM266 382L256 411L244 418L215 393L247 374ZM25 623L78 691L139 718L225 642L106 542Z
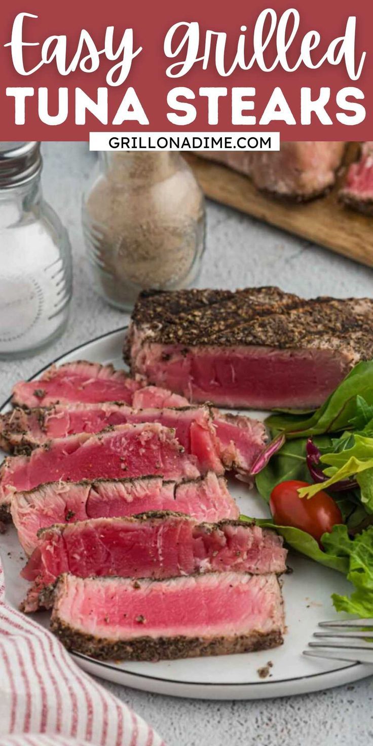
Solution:
M275 532L244 521L198 524L181 513L145 513L60 524L40 531L21 573L34 583L23 610L51 606L50 586L63 572L163 580L214 571L282 573L285 560Z

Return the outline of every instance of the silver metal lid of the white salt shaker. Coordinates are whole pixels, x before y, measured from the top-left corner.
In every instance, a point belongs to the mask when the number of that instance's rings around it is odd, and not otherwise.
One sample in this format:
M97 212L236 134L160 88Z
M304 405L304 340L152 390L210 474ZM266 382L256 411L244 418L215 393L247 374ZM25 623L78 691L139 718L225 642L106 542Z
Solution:
M0 189L31 181L42 168L40 142L0 141Z

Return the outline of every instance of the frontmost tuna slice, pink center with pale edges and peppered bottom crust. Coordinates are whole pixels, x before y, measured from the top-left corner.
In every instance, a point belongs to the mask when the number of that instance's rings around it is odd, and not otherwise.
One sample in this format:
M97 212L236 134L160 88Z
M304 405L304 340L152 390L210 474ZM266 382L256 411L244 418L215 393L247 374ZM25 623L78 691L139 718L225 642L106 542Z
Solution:
M283 604L275 574L172 580L65 574L51 629L66 648L102 660L245 653L283 642Z

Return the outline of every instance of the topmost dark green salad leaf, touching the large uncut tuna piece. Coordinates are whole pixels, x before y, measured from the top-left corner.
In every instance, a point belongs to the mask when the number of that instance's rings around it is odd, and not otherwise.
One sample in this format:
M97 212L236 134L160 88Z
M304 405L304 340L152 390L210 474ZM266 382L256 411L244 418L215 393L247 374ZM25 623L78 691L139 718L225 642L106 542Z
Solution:
M373 360L369 360L358 363L312 415L274 414L266 419L266 424L274 432L283 430L289 438L338 432L354 427L351 421L365 421L368 407L372 406ZM373 419L373 412L369 419Z

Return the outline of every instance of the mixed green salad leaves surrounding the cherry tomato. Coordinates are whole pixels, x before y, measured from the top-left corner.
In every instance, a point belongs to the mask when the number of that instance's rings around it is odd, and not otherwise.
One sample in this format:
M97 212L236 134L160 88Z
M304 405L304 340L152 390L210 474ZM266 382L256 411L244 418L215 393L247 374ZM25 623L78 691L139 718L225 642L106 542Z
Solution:
M266 424L273 437L283 433L286 439L257 474L260 495L269 502L276 485L301 480L310 486L299 490L300 499L327 489L345 523L325 533L322 546L297 528L270 519L257 524L274 528L295 550L346 575L354 592L350 598L333 595L338 611L373 616L373 360L359 363L316 412L275 413ZM312 483L306 460L309 438L319 449L324 482ZM333 492L346 479L351 489Z

